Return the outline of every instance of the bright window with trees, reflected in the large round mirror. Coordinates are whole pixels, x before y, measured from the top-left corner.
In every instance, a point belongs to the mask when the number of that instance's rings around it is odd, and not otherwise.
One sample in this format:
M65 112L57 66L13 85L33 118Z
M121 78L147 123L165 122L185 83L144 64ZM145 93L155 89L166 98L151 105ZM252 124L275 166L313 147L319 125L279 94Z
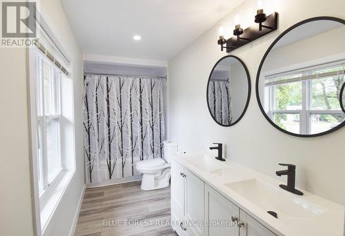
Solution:
M289 132L313 135L334 128L345 117L339 106L344 61L265 78L267 114Z

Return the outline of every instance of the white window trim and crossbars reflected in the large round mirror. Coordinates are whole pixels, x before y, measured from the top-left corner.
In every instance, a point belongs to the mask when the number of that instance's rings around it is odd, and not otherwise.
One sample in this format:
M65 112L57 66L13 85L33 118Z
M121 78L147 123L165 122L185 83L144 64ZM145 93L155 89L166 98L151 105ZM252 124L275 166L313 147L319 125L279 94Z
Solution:
M270 77L270 75L275 74L284 74L285 72L292 72L292 71L299 71L304 70L301 68L315 68L315 65L322 65L326 63L332 63L333 61L344 61L345 59L345 53L341 53L339 55L333 55L331 57L322 57L320 59L315 59L311 61L305 61L304 63L297 63L293 64L291 66L286 66L284 68L279 68L275 70L270 70L261 73L259 77L259 95L264 94L264 90L266 88L265 81L266 77ZM310 116L312 114L331 114L331 115L343 115L342 110L311 110L308 109L311 104L311 95L308 94L308 92L311 91L311 82L309 80L301 81L302 82L302 110L271 110L271 108L275 108L275 87L271 86L269 90L269 104L268 104L268 110L266 114L272 121L274 121L274 114L275 113L284 113L284 114L299 114L299 134L300 135L310 135L311 133L311 122L310 122ZM306 102L303 102L306 101ZM264 101L265 103L266 101ZM266 105L263 104L263 107L265 108Z

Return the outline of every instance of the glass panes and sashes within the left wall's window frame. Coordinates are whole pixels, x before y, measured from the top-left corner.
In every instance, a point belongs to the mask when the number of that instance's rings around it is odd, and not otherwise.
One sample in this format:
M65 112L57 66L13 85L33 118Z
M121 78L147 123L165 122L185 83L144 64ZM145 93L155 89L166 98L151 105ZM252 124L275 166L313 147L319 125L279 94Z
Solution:
M46 57L37 57L37 166L39 194L61 170L60 79L63 74Z

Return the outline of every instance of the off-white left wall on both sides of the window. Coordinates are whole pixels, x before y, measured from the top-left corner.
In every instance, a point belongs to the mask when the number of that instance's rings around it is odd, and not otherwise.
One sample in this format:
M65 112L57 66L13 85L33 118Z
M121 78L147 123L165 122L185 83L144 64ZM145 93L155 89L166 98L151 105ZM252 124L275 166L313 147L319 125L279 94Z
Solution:
M60 201L49 235L68 235L84 186L83 61L59 0L41 1L44 19L72 61L76 173ZM34 235L29 161L28 52L0 48L0 235Z

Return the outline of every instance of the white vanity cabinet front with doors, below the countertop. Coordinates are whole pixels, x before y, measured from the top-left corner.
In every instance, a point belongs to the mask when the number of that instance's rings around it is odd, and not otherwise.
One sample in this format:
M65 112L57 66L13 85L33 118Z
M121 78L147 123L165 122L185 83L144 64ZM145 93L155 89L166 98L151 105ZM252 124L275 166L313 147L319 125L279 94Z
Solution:
M276 236L174 159L171 218L179 236Z

